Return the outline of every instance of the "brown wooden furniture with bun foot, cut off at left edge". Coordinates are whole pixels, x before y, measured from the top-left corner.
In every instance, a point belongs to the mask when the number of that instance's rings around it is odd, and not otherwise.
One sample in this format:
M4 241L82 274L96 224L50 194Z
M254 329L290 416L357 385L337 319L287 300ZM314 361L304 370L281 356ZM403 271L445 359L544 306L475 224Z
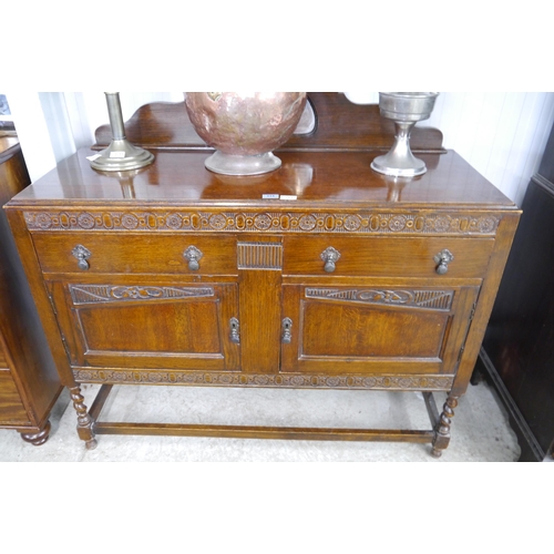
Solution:
M0 136L0 204L24 188L29 174L17 137ZM48 440L49 414L61 392L37 308L4 213L0 213L0 428L27 442Z

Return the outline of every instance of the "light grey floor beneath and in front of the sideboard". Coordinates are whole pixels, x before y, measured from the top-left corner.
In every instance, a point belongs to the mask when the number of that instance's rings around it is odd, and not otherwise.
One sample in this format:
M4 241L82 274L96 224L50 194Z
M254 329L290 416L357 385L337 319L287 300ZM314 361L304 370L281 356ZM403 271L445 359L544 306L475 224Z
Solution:
M90 407L98 387L83 386ZM64 393L51 417L42 447L24 443L16 431L0 431L0 461L21 462L513 462L515 434L492 389L470 386L460 399L452 440L442 458L429 444L387 442L283 441L187 437L99 435L88 451L79 440L76 417ZM445 396L435 394L442 407ZM103 420L164 423L234 423L289 427L429 429L418 392L215 389L176 387L114 388Z

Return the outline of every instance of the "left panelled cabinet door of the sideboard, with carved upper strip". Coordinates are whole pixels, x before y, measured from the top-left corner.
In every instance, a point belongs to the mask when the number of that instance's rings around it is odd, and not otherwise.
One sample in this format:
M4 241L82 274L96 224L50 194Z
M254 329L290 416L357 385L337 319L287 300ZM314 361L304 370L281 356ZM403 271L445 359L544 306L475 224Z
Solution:
M236 284L54 281L49 288L74 367L239 367Z

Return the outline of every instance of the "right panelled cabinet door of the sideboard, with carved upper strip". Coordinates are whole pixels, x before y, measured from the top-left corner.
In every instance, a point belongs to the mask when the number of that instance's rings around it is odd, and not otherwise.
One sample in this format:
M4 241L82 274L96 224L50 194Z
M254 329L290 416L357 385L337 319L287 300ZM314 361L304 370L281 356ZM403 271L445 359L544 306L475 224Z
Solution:
M281 371L453 373L479 287L284 287Z

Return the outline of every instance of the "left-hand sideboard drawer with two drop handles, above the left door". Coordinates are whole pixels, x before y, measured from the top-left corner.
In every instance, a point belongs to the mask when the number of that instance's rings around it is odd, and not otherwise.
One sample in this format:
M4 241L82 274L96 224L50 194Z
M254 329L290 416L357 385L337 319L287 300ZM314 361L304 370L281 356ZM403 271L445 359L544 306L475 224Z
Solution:
M236 240L230 236L37 233L34 248L44 273L236 275ZM90 255L81 269L72 254L81 245ZM198 269L184 254L196 248Z

